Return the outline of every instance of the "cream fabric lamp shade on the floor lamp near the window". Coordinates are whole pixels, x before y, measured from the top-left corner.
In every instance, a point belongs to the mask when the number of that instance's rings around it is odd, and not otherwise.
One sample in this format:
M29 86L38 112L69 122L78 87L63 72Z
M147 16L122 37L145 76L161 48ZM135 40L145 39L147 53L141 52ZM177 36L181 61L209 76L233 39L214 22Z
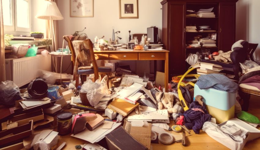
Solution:
M39 19L45 20L62 20L63 16L61 15L60 10L55 2L44 1L43 7L39 9L38 14L35 16Z

